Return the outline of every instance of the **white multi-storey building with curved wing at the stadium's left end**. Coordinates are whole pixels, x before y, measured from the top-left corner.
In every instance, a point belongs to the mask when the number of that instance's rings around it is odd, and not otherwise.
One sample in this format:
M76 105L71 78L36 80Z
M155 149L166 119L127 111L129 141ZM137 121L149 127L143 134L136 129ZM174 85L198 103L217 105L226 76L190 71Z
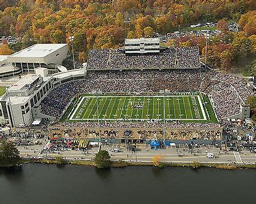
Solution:
M47 69L36 68L35 75L26 75L6 89L0 97L0 123L19 127L30 125L33 120L55 120L44 115L40 110L40 102L47 94L63 83L84 78L84 69L72 69L66 72L47 75Z

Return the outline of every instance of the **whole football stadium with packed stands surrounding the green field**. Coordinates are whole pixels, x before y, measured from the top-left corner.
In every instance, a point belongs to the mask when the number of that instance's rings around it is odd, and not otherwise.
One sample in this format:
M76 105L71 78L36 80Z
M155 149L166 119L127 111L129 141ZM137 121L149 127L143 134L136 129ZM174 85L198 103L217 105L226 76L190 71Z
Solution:
M252 88L243 79L202 68L197 47L160 47L157 38L127 39L117 50L92 49L83 69L52 75L41 69L35 73L43 82L33 78L29 90L36 89L28 105L23 102L31 117L18 120L9 113L13 126L40 119L51 136L215 141L227 119L250 114L245 99ZM12 101L20 106L17 96Z

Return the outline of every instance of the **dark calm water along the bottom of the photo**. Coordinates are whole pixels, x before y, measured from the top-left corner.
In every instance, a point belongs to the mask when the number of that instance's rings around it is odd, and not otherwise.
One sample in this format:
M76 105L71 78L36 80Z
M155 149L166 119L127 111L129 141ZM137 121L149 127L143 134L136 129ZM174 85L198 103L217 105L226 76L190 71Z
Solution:
M255 201L255 170L26 164L0 169L0 204L244 203Z

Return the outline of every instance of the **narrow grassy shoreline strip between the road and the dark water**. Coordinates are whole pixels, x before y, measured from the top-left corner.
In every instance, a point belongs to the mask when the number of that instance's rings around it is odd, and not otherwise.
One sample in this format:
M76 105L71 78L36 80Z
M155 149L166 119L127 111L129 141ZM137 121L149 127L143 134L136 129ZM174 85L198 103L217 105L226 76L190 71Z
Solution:
M0 168L12 168L12 167L21 167L23 164L28 163L40 163L40 164L56 164L59 166L65 165L74 165L74 166L94 166L94 161L90 160L64 160L65 163L59 163L56 159L20 159L15 164L9 165L0 165ZM109 168L124 168L128 166L154 166L156 168L168 168L168 167L190 167L192 169L196 168L219 168L223 170L237 170L237 169L256 169L256 164L230 164L230 163L205 163L205 162L170 162L170 163L162 163L159 162L154 164L152 161L111 161L111 165Z

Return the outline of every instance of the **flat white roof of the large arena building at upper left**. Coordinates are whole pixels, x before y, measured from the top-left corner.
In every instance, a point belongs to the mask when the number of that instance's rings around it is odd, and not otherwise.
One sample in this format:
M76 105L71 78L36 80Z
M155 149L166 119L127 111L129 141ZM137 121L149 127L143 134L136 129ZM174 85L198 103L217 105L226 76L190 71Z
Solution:
M10 55L10 57L45 57L62 47L67 46L67 43L61 44L35 44L31 47L20 50L15 54Z

